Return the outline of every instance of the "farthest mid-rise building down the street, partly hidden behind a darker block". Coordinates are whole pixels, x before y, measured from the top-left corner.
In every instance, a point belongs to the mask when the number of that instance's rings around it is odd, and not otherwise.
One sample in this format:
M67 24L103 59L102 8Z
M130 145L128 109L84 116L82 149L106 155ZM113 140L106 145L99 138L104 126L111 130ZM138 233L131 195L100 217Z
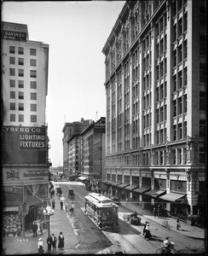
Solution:
M72 147L69 145L73 135L79 135L87 128L92 120L81 119L80 122L65 123L63 132L63 174L65 177L72 175ZM80 172L80 171L78 171Z

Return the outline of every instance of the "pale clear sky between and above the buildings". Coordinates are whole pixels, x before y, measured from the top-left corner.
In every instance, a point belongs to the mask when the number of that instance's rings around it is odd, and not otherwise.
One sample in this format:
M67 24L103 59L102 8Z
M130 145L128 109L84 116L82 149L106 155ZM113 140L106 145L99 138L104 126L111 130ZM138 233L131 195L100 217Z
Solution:
M49 159L63 165L66 122L106 117L105 55L101 52L125 1L2 3L2 20L26 24L29 40L49 44L46 122Z

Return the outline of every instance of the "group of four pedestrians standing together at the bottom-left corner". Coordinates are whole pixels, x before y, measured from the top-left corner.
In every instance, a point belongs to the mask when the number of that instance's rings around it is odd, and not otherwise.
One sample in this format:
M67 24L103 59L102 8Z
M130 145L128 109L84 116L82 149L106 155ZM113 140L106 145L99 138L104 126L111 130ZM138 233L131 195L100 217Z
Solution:
M59 236L58 236L58 239L57 237L55 236L55 234L51 234L51 236L49 236L47 238L47 251L48 253L51 253L51 252L56 252L56 244L57 244L57 241L58 241L58 248L60 250L63 250L64 249L64 235L62 232L60 232ZM38 254L43 254L44 252L44 248L43 248L43 238L40 237L38 239Z

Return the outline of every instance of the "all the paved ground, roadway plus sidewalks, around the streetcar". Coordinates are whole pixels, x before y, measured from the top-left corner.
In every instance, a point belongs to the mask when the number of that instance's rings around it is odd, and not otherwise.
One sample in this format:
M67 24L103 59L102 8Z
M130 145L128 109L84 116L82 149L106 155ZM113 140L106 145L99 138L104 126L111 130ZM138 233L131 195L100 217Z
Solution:
M57 183L56 183L57 184ZM61 185L61 183L59 183ZM66 186L69 183L62 183ZM76 195L81 195L84 197L85 191L82 183L71 183L75 190ZM77 200L78 198L77 197ZM136 206L130 202L122 202L122 206L119 207L119 218L121 231L119 234L110 233L106 231L98 230L95 224L92 223L90 218L88 218L82 209L82 207L75 207L74 215L65 210L61 211L59 204L59 198L55 195L55 214L51 216L50 219L50 234L54 233L58 237L60 231L63 232L65 236L65 247L63 251L57 249L56 253L61 254L100 254L100 253L112 253L112 249L129 247L131 253L134 253L134 246L136 244L137 249L140 248L142 253L150 253L148 250L153 250L159 247L161 241L165 236L170 236L176 244L176 249L181 249L184 247L189 247L192 249L192 253L199 252L199 249L205 247L205 230L199 229L194 226L182 223L182 229L176 230L176 219L168 218L170 223L170 230L162 227L162 222L164 218L154 218L152 212L147 209L142 209L138 205ZM81 200L80 200L81 201ZM75 204L76 206L76 204ZM130 226L130 224L124 224L123 214L124 212L131 212L136 210L138 214L141 215L142 225ZM142 236L143 224L148 221L151 226L151 231L153 233L153 241L145 241ZM134 232L135 230L135 232ZM47 251L46 239L48 236L48 231L43 232L43 244L45 253ZM14 254L36 254L38 252L38 238L32 237L32 233L27 233L24 239L17 237L5 238L3 240L3 247L5 248L4 253L8 255ZM130 243L128 244L128 241ZM114 245L113 245L114 244ZM145 251L147 247L147 252ZM152 249L151 249L152 248ZM153 253L152 252L152 253Z

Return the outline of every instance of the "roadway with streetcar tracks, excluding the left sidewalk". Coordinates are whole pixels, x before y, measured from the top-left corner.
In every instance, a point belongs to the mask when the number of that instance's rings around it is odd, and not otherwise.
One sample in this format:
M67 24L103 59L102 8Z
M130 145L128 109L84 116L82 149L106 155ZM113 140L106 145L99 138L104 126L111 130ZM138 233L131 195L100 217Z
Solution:
M68 189L74 190L74 214L69 212L66 212L66 214L78 238L78 245L75 248L76 253L155 253L166 236L170 237L170 241L174 241L177 251L188 248L188 253L195 253L199 248L204 247L204 241L182 236L182 234L172 230L166 230L153 221L149 222L153 236L149 241L146 241L142 235L144 218L142 218L142 224L139 226L125 223L122 215L124 212L128 212L128 209L124 207L118 208L120 226L118 233L99 230L84 213L84 196L90 193L86 191L84 185L76 182L64 182L55 183L55 186L61 186L66 205L70 205L72 201L67 197Z

